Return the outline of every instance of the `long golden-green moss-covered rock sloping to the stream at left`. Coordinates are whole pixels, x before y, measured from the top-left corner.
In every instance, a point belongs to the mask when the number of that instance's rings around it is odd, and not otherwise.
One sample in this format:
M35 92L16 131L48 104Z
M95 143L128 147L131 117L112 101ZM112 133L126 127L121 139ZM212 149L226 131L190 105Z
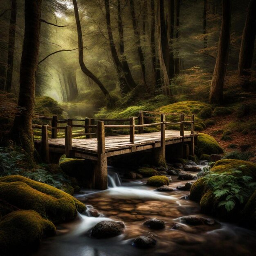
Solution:
M0 199L19 209L31 209L54 223L73 220L85 205L47 184L19 175L0 178Z

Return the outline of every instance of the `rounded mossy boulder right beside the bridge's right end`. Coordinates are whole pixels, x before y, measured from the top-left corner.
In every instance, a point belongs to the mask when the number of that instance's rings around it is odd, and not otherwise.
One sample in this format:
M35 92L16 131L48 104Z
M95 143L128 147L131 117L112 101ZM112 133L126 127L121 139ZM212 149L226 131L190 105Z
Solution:
M196 153L198 156L202 154L222 154L223 148L218 144L216 139L205 133L199 133L198 145L196 146Z

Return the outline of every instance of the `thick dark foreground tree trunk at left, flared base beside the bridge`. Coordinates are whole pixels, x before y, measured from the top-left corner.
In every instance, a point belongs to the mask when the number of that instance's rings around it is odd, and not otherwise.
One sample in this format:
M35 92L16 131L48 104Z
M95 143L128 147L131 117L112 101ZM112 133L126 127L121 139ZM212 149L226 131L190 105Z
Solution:
M10 135L22 146L28 162L34 164L34 142L32 117L35 101L36 71L40 47L40 16L42 0L25 0L25 33L20 63L20 91L18 106L21 113L16 115Z

